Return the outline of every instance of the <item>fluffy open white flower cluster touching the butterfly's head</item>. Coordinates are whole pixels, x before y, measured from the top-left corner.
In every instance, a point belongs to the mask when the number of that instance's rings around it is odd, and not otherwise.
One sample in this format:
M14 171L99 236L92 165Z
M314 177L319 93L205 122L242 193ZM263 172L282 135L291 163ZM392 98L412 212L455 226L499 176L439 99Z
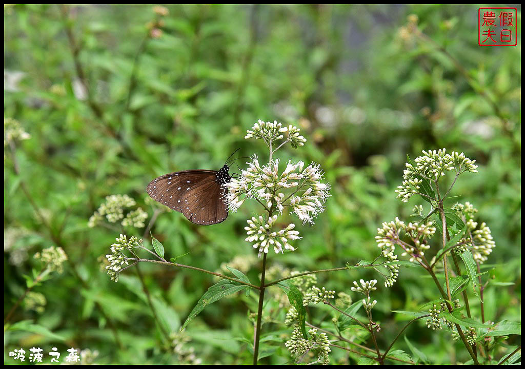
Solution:
M304 167L302 161L290 161L279 173L279 160L261 166L257 156L253 156L247 164L248 169L239 178L232 178L225 185L231 211L235 212L246 198L255 198L279 213L289 206L290 214L296 214L303 224L313 224L317 214L324 211L323 203L330 196L330 185L321 183L323 172L320 165L312 163ZM287 190L293 192L287 196Z

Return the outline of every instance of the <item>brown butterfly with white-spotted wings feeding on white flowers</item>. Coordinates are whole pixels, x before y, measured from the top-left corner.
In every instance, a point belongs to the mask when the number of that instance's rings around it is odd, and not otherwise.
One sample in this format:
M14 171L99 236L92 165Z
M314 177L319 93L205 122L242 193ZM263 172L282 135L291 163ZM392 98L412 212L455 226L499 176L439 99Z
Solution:
M209 226L224 222L228 217L225 184L233 177L229 175L228 160L218 171L164 174L151 181L146 192L155 201L182 213L192 223Z

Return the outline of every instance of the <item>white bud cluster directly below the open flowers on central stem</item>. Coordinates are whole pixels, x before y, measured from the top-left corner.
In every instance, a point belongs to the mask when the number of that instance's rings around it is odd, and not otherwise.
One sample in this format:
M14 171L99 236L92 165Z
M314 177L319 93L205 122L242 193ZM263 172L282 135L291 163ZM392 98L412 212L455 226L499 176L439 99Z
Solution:
M274 247L276 254L283 252L285 250L293 251L295 248L291 246L288 241L301 239L299 237L299 232L293 230L295 224L291 223L288 227L283 228L279 231L272 231L271 227L274 225L277 220L277 215L270 217L268 220L259 216L259 218L252 217L251 219L246 220L248 223L247 227L244 227L246 230L246 241L255 242L253 245L254 249L259 249L259 257L262 255L262 252L268 254L268 249L270 246Z

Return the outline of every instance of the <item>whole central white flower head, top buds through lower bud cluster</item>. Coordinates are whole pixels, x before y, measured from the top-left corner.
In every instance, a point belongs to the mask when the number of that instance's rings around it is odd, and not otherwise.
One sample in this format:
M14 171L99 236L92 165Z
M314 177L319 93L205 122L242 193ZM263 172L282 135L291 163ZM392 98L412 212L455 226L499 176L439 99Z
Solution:
M274 149L276 141L287 138L280 142ZM303 224L313 224L313 219L318 213L324 211L324 202L330 196L330 185L322 183L323 172L320 165L312 163L305 166L302 161L289 161L286 168L279 171L279 159L272 160L272 155L284 144L290 143L293 147L304 145L306 139L299 134L296 126L283 127L277 121L263 122L259 120L251 130L247 131L246 139L262 139L269 148L269 163L259 164L256 155L251 157L248 168L242 170L238 178L232 178L225 184L228 189L225 201L232 212L244 203L247 198L255 199L268 212L268 219L259 216L247 220L245 227L248 242L253 242L253 247L258 249L259 257L267 254L270 246L274 247L276 253L283 250L295 250L289 244L290 240L300 239L299 232L293 230L295 224L289 224L286 228L275 231L277 214L281 215L285 207L289 207L290 214L296 214Z

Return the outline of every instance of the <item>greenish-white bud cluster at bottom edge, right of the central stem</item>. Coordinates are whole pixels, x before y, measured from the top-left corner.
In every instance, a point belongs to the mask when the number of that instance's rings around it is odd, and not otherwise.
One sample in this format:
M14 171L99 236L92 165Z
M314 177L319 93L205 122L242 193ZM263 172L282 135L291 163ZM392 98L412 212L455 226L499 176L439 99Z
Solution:
M328 365L330 358L328 353L330 350L330 340L326 333L321 332L317 334L317 329L312 328L308 331L310 335L309 339L304 339L299 327L296 327L290 340L286 341L285 346L288 351L292 354L304 355L307 352L317 354L317 362L320 364Z

